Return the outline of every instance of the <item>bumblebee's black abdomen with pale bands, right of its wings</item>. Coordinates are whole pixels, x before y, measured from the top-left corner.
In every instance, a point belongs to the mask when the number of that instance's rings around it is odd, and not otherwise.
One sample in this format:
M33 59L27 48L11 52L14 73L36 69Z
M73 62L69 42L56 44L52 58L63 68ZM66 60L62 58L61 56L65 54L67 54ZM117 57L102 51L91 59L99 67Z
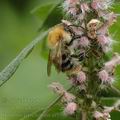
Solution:
M73 62L71 60L71 57L67 54L62 55L62 64L61 64L61 70L62 72L70 70L73 68Z

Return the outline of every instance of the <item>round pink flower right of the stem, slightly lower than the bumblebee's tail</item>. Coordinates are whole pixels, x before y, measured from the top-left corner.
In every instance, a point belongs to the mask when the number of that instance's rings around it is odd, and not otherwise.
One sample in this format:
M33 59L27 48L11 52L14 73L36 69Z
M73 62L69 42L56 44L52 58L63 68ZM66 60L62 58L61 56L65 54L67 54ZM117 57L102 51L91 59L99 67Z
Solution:
M109 80L109 74L106 70L100 71L98 76L101 79L102 83L106 83Z

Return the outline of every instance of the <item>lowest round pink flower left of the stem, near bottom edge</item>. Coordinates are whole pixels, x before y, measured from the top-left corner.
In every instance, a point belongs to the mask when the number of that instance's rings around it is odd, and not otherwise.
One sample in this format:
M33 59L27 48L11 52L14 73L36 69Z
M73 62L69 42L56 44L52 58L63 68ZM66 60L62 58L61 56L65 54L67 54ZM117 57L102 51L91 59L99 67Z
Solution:
M73 115L77 110L77 104L74 103L74 102L71 102L71 103L68 103L65 110L64 110L64 113L66 115Z

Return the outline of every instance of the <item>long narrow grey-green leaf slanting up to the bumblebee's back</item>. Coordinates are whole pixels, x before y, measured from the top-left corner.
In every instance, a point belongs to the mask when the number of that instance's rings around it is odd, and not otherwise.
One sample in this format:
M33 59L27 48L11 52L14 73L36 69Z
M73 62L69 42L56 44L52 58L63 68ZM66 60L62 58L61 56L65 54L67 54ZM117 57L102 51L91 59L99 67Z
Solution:
M48 30L49 31L49 30ZM0 72L0 86L2 86L7 80L9 80L15 73L21 62L32 52L33 48L44 39L48 34L48 31L40 34L36 39L34 39L30 44L28 44L20 54Z

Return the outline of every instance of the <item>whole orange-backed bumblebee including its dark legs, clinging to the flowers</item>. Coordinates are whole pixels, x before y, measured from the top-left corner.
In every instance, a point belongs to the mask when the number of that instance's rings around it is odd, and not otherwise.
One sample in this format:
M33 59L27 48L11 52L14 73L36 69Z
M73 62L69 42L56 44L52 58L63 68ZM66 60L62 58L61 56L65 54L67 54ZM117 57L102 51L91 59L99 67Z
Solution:
M51 66L54 64L58 72L68 72L76 68L81 59L84 59L83 53L71 51L70 47L74 40L77 40L74 31L69 25L59 24L55 26L48 34L49 57L47 64L47 74L51 74ZM76 49L76 48L74 48ZM75 53L72 54L72 53Z

